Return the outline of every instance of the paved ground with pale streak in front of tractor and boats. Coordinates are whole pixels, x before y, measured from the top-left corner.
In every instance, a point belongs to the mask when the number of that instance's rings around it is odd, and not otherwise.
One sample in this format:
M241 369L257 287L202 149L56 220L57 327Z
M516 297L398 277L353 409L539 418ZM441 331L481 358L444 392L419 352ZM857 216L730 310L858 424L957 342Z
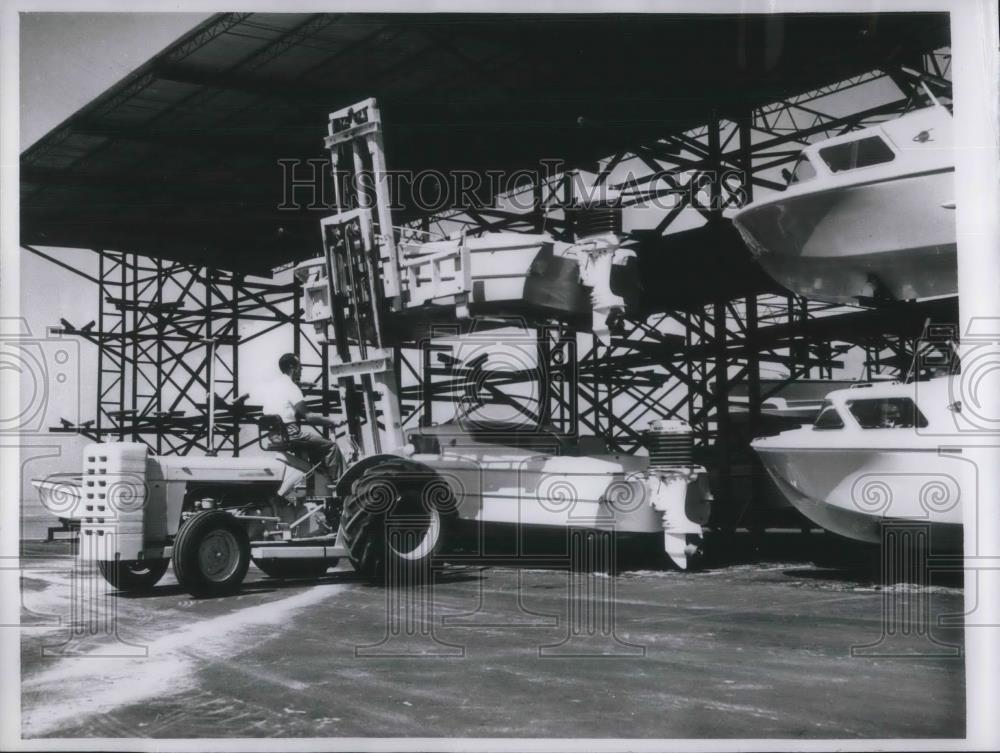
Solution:
M766 557L614 579L465 565L407 607L344 565L294 582L252 567L209 600L171 573L144 597L83 575L102 622L68 641L60 546L25 549L24 737L964 734L963 659L942 655L961 632L879 643L889 603L927 606L932 625L960 612L954 584L879 589ZM861 644L878 645L852 656Z

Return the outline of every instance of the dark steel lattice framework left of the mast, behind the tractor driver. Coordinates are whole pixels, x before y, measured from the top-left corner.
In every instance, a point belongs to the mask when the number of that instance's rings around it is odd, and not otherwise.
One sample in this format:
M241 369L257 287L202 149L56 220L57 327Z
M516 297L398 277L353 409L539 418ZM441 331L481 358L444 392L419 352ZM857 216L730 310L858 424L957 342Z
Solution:
M80 424L63 421L52 431L96 442L144 442L161 454L238 455L256 441L241 431L260 415L241 392L240 350L283 326L291 327L294 351L316 381L305 391L310 403L325 411L339 404L325 349L301 326L294 283L127 252L95 253L96 278L63 266L94 283L97 318L83 325L63 319L54 332L97 348L96 415ZM241 325L252 331L242 334Z

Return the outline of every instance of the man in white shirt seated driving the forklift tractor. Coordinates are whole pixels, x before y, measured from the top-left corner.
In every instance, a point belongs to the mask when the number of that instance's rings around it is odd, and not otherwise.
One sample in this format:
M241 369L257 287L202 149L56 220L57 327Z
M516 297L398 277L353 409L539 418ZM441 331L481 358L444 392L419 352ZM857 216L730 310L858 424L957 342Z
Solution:
M301 447L313 465L323 463L331 483L336 482L344 472L344 456L336 442L320 436L311 427L328 426L337 429L343 422L337 423L319 413L310 413L305 403L305 396L299 387L302 378L302 363L294 353L285 353L278 359L278 368L282 376L268 385L264 398L265 414L281 417L288 432L288 438ZM306 429L302 424L307 424Z

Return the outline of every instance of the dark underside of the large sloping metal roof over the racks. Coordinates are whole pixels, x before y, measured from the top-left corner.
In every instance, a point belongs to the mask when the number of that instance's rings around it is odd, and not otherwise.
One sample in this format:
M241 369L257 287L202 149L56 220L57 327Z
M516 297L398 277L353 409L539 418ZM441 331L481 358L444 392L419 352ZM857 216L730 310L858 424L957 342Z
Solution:
M366 97L394 169L513 170L947 43L946 14L220 14L22 154L22 241L260 271L327 213L277 209L278 160L324 157L327 113Z

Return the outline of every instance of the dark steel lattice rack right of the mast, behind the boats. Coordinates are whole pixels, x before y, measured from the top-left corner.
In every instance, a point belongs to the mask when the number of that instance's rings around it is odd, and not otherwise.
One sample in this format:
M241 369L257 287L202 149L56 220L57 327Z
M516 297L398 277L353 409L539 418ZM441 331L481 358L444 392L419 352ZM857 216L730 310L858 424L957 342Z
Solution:
M903 114L920 101L920 81L929 82L939 95L947 97L947 61L944 51L926 53L912 61L912 67L898 65L870 71L753 109L741 117L714 117L700 128L664 134L602 160L591 185L608 184L621 192L626 208L642 207L666 197L673 199L673 205L662 212L653 230L667 241L664 252L668 253L672 227L685 213L696 213L705 225L722 223L722 213L751 201L755 187L783 187L773 174L791 164L801 147L811 140ZM887 81L893 82L903 96L862 111L837 113L831 107L838 101L834 95ZM616 182L616 174L626 170L627 179ZM579 185L578 176L571 170L543 174L539 182L523 189L530 190L534 197L529 211L455 211L428 218L422 225L445 233L455 227L471 233L544 229L557 239L571 240L572 222L567 208L574 202L574 187ZM625 245L637 246L648 234L648 230L626 229ZM662 305L669 308L670 302L663 301ZM882 334L865 338L852 333L853 319L843 320L842 340L830 335L810 337L796 328L816 318L853 311L851 307L795 296L723 297L690 310L664 311L645 320L630 320L625 331L609 345L593 341L590 347L581 348L572 369L550 362L547 350L540 347L539 368L550 379L559 380L559 388L552 392L559 396L556 403L560 410L565 411L571 404L563 397L563 385L575 385L575 417L560 414L561 425L570 430L602 434L614 446L631 451L639 444L634 417L679 417L690 421L700 443L707 446L727 431L730 384L749 384L750 420L755 422L760 402L767 397L760 393L762 364L781 366L787 370L788 381L832 378L834 369L844 365L843 356L852 348L861 348L867 378L882 371L905 371L902 362L908 352L906 341L913 336L894 332L888 319ZM684 335L665 332L661 325L668 321L679 325ZM778 330L774 328L779 325L787 326L776 337ZM539 330L540 344L546 341L544 332L544 328ZM767 335L764 340L761 333ZM879 354L884 351L897 358L881 358ZM572 380L566 378L567 372L572 372ZM427 372L424 378L438 376L454 378L456 374L454 370L438 369ZM532 376L529 373L525 378ZM496 379L498 384L516 381L507 373L496 375ZM453 399L448 390L425 389L423 394Z

